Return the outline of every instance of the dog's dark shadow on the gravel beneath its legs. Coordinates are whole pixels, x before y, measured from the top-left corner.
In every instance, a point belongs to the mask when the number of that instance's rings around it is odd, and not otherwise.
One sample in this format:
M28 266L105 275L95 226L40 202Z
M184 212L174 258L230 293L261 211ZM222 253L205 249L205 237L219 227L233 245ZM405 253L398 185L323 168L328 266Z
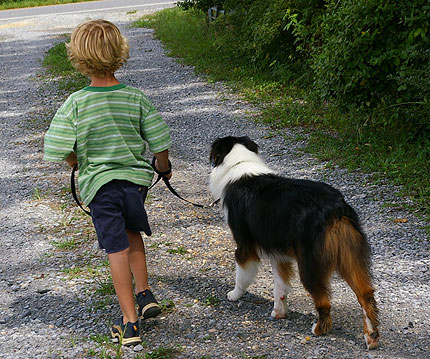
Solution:
M159 276L158 279L168 286L169 291L176 292L178 296L198 298L200 302L205 298L215 297L219 300L214 306L219 320L240 323L243 320L262 323L268 331L285 331L293 336L312 336L311 328L316 322L313 303L307 298L304 291L293 294L289 299L289 312L287 319L275 320L270 317L273 309L272 298L268 299L259 294L246 293L237 302L230 302L226 298L228 291L232 290L231 284L220 278L208 278L202 276ZM307 300L306 300L307 299ZM335 304L333 307L333 331L325 336L335 338L335 340L353 341L361 344L362 339L362 317L355 297L351 298L351 303L346 305ZM303 304L304 302L307 302ZM303 305L311 310L302 313L296 310ZM327 339L330 340L330 339Z

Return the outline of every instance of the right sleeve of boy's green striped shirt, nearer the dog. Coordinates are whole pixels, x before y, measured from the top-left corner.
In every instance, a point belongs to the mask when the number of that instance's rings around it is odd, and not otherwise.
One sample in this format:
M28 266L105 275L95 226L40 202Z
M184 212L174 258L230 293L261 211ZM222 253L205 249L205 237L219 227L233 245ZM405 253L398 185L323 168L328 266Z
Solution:
M142 137L148 142L149 150L152 153L162 152L170 148L172 140L169 127L153 105L141 121Z

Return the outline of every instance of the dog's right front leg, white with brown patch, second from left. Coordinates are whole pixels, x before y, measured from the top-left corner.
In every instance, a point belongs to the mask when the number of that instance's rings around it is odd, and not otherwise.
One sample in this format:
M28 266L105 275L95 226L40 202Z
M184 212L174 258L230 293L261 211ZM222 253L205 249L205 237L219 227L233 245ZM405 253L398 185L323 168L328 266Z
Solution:
M291 292L290 279L293 276L293 265L289 261L270 259L274 277L272 318L287 317L287 295Z

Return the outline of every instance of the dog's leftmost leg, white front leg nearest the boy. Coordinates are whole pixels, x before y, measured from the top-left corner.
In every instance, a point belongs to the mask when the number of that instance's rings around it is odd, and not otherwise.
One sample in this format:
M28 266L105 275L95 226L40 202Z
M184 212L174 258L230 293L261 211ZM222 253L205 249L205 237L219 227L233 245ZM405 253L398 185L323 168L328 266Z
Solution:
M254 282L258 273L260 258L255 249L238 247L236 257L236 284L232 291L227 293L228 300L236 301L246 293L248 287Z

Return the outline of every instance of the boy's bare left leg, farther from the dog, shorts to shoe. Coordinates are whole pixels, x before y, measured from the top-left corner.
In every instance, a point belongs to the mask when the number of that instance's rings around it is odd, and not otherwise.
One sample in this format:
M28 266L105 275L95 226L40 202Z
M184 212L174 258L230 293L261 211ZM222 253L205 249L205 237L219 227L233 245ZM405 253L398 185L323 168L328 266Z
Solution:
M123 314L123 324L137 321L130 272L130 249L108 254L113 285Z

